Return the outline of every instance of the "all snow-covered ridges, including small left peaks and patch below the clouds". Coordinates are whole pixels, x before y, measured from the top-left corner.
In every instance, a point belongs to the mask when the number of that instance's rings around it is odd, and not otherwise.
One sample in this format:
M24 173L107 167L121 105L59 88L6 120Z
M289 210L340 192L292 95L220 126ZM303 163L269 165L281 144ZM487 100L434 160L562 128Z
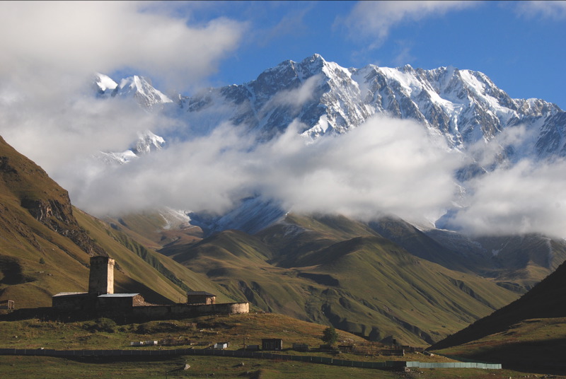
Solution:
M96 88L101 97L111 93L111 97L134 98L144 110L177 119L186 128L180 131L182 136L208 134L229 122L256 134L261 143L299 121L299 133L313 140L326 134L345 134L372 115L385 114L419 122L462 153L468 153L474 144L499 141L497 137L505 129L523 126L531 139L521 146L500 146L500 161L566 157L566 112L560 107L540 99L510 98L485 74L452 66L425 70L370 64L345 69L314 54L301 62L282 62L248 83L178 95L175 102L141 76L117 84L98 74ZM107 153L107 157L127 163L164 144L161 137L147 134L129 151ZM485 173L495 165L497 162L490 167L473 163L457 178ZM258 197L243 200L240 208L224 216L192 215L191 223L200 223L209 231L258 231L283 214L277 205Z

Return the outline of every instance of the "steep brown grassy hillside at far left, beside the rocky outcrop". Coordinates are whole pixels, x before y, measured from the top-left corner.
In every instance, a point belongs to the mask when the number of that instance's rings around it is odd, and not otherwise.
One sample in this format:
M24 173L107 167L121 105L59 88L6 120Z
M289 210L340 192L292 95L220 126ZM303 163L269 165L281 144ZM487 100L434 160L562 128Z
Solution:
M88 254L23 206L66 204L67 192L1 137L0 157L0 299L16 301L18 308L50 305L52 294L88 278Z

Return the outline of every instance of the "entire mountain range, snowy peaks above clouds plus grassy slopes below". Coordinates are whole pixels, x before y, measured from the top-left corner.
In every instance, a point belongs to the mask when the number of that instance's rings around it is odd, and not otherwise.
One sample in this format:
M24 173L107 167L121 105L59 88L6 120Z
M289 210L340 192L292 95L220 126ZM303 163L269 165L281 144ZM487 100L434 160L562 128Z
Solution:
M100 101L132 98L141 112L159 112L182 128L163 136L140 130L124 151L100 152L96 158L108 164L158 154L168 141L209 134L223 122L257 144L299 122L309 144L341 138L380 113L415 120L469 158L454 176L462 186L524 157L564 156L566 117L558 106L509 98L484 74L452 67L345 69L315 54L190 97L165 95L141 76L114 81L97 74L94 86ZM514 128L533 137L522 144L500 138ZM474 156L475 144L492 141L495 161ZM46 305L53 293L83 288L88 256L112 255L121 267L118 286L150 301L202 289L370 339L423 346L514 301L566 260L560 238L471 237L447 230L449 216L432 220L435 227L395 215L359 221L296 214L261 194L221 215L163 206L100 221L71 206L64 189L1 142L8 244L0 250L0 298L23 305Z

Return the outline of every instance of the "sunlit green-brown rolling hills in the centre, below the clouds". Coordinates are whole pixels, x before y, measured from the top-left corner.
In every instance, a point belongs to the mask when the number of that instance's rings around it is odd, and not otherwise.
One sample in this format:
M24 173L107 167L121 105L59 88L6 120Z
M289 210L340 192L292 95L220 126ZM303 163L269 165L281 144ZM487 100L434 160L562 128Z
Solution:
M162 252L262 309L413 345L437 341L516 298L340 217L291 215L256 237L226 231Z

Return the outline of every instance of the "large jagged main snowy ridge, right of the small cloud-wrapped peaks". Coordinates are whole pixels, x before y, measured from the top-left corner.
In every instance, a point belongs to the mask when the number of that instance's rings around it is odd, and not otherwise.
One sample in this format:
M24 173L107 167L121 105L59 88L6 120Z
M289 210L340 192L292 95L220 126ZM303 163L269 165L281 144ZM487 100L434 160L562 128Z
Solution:
M304 95L306 91L310 96ZM286 103L286 94L307 100L300 106ZM294 119L306 125L301 134L316 139L323 134L343 134L371 115L385 113L415 119L444 135L449 146L459 150L490 141L503 129L521 123L540 128L536 134L542 136L544 130L555 129L549 117L563 114L544 100L512 99L477 71L451 66L424 70L409 65L345 69L319 54L302 62L282 62L242 85L181 96L180 108L175 117L198 124L201 130L230 121L259 132L261 139L272 138ZM541 119L553 125L545 127ZM530 154L532 147L519 153ZM538 151L543 154L544 148Z

